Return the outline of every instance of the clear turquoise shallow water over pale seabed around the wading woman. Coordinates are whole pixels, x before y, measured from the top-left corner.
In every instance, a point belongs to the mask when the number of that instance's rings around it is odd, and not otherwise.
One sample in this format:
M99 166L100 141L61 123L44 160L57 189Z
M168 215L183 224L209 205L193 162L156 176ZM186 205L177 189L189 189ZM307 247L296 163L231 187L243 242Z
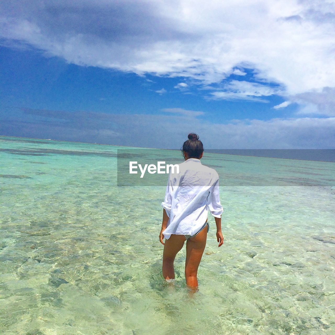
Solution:
M1 334L335 333L335 163L204 157L224 244L209 217L190 296L185 247L161 277L165 186L118 187L118 148L0 137Z

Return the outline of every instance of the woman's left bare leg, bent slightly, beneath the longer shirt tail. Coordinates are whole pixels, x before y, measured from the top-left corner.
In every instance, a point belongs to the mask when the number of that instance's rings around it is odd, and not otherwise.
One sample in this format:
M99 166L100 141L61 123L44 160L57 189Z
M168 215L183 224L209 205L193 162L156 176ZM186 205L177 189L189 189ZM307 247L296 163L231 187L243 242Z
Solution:
M172 234L170 239L165 240L163 251L163 278L175 279L175 268L173 266L174 260L178 252L183 248L185 242L184 235Z

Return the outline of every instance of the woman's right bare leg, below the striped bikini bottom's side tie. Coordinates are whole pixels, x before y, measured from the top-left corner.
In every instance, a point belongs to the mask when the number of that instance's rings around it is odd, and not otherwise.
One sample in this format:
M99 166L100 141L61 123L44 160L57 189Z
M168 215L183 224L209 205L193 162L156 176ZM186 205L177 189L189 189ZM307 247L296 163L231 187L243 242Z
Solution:
M198 287L198 267L205 250L206 240L207 227L186 242L185 279L186 285L191 288Z

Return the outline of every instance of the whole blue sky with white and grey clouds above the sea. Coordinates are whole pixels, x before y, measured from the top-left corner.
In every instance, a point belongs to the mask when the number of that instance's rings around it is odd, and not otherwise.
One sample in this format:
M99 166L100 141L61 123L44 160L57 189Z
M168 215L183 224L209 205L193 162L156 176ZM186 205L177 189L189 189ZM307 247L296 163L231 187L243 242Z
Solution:
M0 135L335 148L335 1L2 0Z

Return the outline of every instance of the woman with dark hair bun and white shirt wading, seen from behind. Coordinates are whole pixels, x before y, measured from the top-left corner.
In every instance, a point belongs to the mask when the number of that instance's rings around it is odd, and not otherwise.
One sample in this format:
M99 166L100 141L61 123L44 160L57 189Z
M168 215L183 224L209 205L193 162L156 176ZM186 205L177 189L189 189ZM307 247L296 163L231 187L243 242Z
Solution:
M197 134L189 134L181 148L185 161L179 173L169 174L162 202L163 221L159 241L164 245L162 272L165 280L175 278L174 260L186 242L185 278L190 288L198 287L197 272L206 246L208 209L215 218L219 247L223 244L219 199L219 176L202 165L203 144ZM207 228L207 229L205 229ZM163 239L165 238L165 243Z

